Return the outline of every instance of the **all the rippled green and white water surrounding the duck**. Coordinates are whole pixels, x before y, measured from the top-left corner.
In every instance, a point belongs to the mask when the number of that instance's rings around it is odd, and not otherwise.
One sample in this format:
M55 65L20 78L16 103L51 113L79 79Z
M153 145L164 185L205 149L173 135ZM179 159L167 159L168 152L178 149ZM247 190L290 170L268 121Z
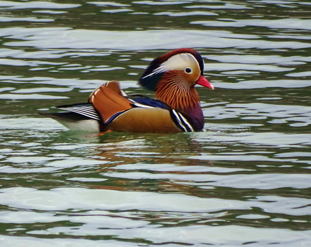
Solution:
M310 1L0 1L1 246L310 246ZM204 132L72 132L38 109L200 51Z

